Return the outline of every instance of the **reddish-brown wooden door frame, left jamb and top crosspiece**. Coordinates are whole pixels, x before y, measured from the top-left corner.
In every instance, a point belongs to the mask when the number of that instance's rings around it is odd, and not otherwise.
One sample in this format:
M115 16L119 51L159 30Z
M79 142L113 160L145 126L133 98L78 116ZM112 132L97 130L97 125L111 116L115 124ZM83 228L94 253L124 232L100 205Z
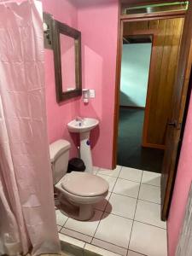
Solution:
M153 2L152 2L153 3ZM155 3L155 2L154 2ZM136 4L141 5L141 4ZM117 40L117 60L116 60L116 79L115 79L115 95L114 95L114 114L113 114L113 158L112 169L117 165L117 143L118 143L118 125L119 125L119 91L120 91L120 75L121 75L121 60L122 60L122 42L124 23L129 21L144 21L144 20L163 20L172 18L183 18L186 11L170 11L152 14L139 15L121 15L120 0L119 0L119 24L118 24L118 40ZM151 63L150 63L151 66ZM150 71L149 71L150 73ZM149 79L148 79L149 80Z

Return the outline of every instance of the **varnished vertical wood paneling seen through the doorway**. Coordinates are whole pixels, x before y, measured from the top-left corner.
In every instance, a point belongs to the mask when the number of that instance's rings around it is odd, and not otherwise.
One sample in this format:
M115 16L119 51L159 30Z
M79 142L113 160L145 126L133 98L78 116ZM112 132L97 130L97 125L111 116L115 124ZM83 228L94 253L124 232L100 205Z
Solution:
M165 148L167 119L183 32L183 17L126 22L124 37L153 35L148 95L143 125L143 147Z

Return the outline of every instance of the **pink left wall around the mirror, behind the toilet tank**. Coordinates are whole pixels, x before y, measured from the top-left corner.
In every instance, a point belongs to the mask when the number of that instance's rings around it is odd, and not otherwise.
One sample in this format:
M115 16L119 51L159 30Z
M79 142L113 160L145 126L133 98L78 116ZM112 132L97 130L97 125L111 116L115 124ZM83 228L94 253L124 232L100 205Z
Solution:
M78 11L70 0L42 0L45 12L68 26L78 27ZM71 157L77 154L75 138L67 131L67 123L79 115L79 98L58 105L55 96L55 73L53 51L45 49L45 84L49 143L65 138L72 143Z

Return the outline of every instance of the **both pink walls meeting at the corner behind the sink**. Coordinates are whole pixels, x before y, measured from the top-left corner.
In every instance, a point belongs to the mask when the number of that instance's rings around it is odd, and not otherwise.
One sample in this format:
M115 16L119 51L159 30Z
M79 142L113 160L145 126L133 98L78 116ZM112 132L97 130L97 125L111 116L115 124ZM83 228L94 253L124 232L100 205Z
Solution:
M53 52L45 50L49 142L66 138L72 143L71 156L76 155L77 137L71 138L67 122L77 115L96 117L100 125L91 136L94 165L109 168L112 166L118 0L90 1L86 4L78 0L42 2L44 11L82 32L83 88L96 90L96 98L86 106L79 98L59 106L55 99Z

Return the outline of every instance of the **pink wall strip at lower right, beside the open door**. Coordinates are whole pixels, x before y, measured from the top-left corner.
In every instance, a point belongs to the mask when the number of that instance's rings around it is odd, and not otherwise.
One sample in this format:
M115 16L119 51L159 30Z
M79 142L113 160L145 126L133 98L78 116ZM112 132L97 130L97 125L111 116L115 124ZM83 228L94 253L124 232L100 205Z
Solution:
M189 104L187 123L185 126L183 145L177 168L177 178L172 197L172 206L168 219L169 256L175 256L179 231L182 228L183 216L192 182L192 96Z

